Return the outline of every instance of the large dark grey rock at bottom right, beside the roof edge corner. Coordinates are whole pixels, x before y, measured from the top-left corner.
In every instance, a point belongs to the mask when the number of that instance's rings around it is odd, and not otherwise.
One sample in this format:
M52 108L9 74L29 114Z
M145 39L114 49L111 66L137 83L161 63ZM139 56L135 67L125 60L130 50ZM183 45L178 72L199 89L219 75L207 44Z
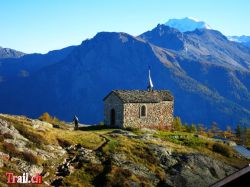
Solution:
M173 159L169 157L168 160ZM176 155L175 165L167 164L166 184L170 186L209 186L236 171L221 161L202 154Z

